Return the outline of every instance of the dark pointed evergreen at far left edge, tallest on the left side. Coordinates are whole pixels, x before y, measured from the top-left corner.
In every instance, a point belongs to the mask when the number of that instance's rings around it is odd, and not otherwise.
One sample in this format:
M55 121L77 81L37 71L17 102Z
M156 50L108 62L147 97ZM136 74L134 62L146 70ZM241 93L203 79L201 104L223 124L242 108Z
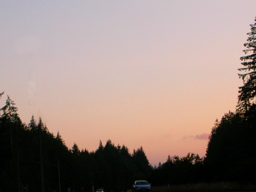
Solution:
M3 93L1 93L2 95ZM20 120L17 114L18 109L9 95L7 95L5 106L1 111L3 114L0 117L0 154L4 157L1 158L3 166L1 169L4 171L0 173L0 180L12 186L12 190L16 190L20 179L19 145L20 139L25 136L25 124Z

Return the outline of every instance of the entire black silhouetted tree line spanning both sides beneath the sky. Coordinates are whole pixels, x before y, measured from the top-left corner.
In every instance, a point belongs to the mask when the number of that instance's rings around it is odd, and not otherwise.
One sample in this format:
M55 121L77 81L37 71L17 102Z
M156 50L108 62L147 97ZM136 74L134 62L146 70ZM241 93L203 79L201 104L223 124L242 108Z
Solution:
M237 109L216 120L205 157L194 153L168 156L153 167L142 146L131 153L125 145L108 140L104 145L99 141L93 152L80 150L76 143L68 148L59 132L54 136L40 118L36 123L32 116L24 123L7 96L0 110L0 191L20 191L26 184L29 191L42 191L44 185L45 191L103 187L119 192L144 179L153 186L214 181L256 184L251 177L256 172L256 23L250 27L239 69L243 86Z

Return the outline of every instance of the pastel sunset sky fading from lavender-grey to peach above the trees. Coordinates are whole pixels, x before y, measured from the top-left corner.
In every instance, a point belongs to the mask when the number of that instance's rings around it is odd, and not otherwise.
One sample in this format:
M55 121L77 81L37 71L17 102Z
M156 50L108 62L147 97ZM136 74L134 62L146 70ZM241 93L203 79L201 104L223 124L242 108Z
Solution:
M1 1L0 100L66 145L205 156L235 111L256 1Z

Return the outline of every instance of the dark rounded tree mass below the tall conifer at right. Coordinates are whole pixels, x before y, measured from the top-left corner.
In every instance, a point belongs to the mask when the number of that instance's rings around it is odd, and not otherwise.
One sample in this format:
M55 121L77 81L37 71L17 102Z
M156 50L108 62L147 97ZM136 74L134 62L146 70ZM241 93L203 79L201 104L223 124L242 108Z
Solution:
M209 180L255 182L250 177L255 172L255 138L255 127L239 113L226 113L217 121L205 158Z

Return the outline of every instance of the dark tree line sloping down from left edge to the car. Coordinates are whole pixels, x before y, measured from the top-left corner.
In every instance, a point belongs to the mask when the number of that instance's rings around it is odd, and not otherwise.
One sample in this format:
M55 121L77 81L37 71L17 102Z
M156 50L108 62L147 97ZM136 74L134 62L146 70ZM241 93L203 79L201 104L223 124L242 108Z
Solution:
M41 191L39 132L45 191L59 190L59 178L62 191L92 191L92 186L123 191L152 172L142 146L130 153L125 145L108 140L105 145L100 141L95 152L79 150L76 143L69 149L59 132L54 136L41 119L36 123L32 116L23 123L7 96L0 116L1 191L17 191L25 184L30 191Z

